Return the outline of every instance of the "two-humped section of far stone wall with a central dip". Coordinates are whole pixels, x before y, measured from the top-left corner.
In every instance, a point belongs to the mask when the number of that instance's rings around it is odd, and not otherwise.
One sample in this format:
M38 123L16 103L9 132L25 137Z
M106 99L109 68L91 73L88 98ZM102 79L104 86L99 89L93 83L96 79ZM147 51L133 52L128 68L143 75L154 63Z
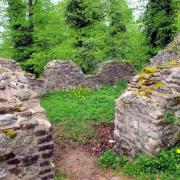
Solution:
M51 61L44 71L45 89L71 89L78 86L97 88L129 80L134 68L126 62L107 61L99 65L97 73L85 75L72 61Z

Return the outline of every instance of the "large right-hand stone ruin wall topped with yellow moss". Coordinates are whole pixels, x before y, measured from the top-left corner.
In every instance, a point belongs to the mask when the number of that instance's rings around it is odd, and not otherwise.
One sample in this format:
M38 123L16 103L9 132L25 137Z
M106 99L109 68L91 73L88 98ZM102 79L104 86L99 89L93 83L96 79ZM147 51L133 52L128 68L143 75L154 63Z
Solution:
M131 158L180 144L180 51L160 51L116 100L114 138L115 151Z

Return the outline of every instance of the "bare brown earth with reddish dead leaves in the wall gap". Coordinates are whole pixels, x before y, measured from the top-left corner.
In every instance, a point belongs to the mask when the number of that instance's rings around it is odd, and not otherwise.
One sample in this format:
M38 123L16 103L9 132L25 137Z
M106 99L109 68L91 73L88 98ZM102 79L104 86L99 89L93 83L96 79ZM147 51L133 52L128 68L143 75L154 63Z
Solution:
M115 176L113 172L104 171L97 165L97 156L111 148L108 140L112 139L113 127L100 125L96 129L98 141L89 145L77 145L72 141L61 141L59 130L54 128L54 162L56 170L65 172L67 180L131 180L123 174Z

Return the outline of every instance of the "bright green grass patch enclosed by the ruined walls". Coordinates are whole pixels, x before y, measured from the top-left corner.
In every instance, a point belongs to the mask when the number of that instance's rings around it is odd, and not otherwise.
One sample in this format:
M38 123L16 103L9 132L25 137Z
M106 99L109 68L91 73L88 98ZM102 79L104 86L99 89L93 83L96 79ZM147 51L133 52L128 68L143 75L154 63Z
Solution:
M93 138L93 125L113 122L115 99L126 85L122 81L98 90L77 88L52 92L41 97L41 105L51 122L60 126L62 137L82 143Z

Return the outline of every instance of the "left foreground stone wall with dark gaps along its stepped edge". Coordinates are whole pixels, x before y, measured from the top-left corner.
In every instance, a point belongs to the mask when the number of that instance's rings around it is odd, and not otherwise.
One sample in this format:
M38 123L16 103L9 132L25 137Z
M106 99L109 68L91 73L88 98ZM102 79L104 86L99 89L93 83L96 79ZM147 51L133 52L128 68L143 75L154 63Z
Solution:
M0 64L0 179L54 179L51 125L37 95L16 63Z

